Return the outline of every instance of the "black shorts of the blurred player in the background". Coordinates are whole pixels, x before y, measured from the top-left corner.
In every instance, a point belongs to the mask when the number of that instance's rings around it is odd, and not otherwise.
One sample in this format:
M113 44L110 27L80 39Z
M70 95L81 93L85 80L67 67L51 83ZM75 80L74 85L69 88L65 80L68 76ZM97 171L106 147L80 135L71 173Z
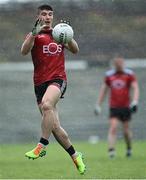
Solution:
M130 121L130 108L110 108L110 118L118 118L120 121Z

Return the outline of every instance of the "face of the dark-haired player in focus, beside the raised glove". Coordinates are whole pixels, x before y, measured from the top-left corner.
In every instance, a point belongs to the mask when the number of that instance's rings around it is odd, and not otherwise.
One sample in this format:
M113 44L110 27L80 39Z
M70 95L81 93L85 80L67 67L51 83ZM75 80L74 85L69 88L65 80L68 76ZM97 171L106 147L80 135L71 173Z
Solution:
M38 15L38 18L42 19L47 27L49 27L49 28L52 27L53 11L41 10Z

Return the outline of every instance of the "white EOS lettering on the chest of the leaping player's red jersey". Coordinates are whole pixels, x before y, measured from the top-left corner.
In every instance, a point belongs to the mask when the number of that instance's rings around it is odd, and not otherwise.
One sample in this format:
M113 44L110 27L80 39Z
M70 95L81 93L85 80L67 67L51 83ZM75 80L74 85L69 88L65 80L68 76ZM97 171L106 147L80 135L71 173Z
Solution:
M55 54L61 53L61 52L62 52L61 44L50 43L48 45L43 45L43 53L44 54L55 55Z

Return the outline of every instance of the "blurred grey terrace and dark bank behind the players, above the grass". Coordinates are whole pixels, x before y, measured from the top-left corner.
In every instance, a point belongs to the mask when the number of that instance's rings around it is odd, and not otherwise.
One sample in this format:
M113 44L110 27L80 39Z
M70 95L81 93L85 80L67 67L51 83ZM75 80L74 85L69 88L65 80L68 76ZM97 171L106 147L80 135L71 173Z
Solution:
M40 135L31 58L22 57L20 48L43 3L54 8L54 25L61 19L71 22L80 47L78 55L66 53L68 89L59 103L61 123L71 138L106 140L107 99L100 116L93 110L104 73L120 53L139 80L141 100L131 128L135 139L145 139L145 0L0 0L0 143L35 142Z

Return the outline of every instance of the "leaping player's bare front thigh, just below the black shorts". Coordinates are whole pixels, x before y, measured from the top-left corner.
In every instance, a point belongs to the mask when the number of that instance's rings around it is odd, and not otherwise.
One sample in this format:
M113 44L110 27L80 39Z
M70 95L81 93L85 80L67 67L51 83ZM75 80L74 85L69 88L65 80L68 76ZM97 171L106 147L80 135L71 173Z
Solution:
M50 85L48 86L43 98L42 98L42 106L44 103L49 103L51 104L53 107L56 106L57 102L59 101L61 96L61 91L60 89L55 86L55 85Z

